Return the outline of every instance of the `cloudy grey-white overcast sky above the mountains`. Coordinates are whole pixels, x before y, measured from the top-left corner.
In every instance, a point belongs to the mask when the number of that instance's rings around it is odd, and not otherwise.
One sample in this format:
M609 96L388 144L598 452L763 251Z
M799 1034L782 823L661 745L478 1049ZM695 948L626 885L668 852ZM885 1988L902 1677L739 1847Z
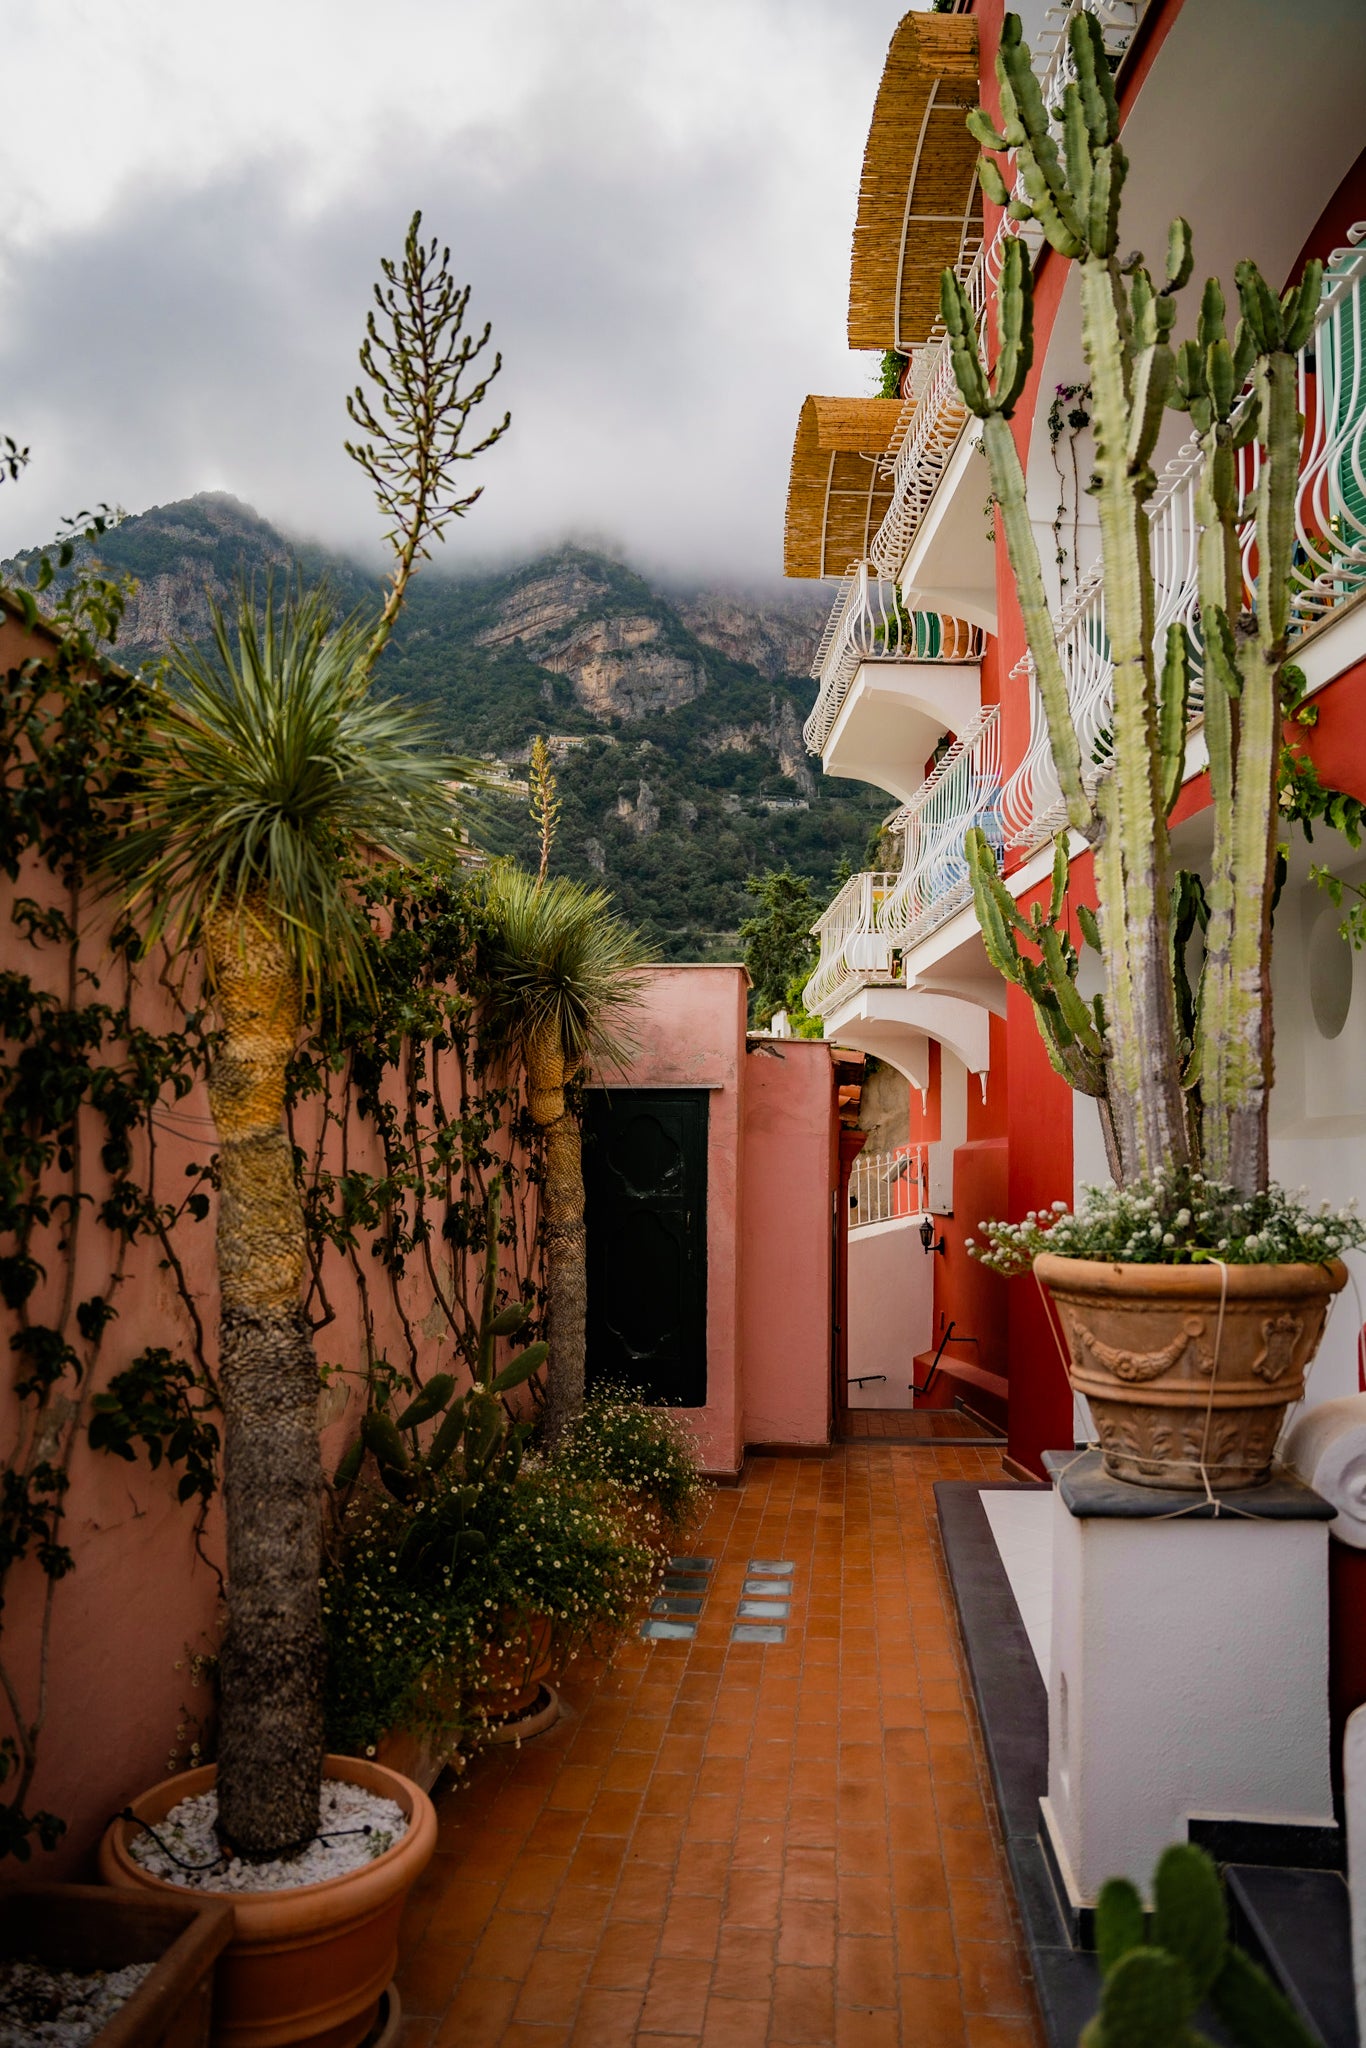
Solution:
M451 567L575 535L780 573L807 391L844 344L897 0L0 6L0 553L227 489L375 547L342 455L371 279L414 207L504 352L512 432Z

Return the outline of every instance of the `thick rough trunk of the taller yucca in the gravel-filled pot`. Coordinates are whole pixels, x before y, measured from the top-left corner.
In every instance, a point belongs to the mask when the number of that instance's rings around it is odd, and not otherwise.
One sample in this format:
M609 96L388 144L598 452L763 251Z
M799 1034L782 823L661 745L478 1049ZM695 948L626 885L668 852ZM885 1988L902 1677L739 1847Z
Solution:
M211 913L205 940L223 1030L209 1073L227 1505L219 1825L264 1860L317 1831L324 1755L317 1362L283 1120L299 975L260 901Z

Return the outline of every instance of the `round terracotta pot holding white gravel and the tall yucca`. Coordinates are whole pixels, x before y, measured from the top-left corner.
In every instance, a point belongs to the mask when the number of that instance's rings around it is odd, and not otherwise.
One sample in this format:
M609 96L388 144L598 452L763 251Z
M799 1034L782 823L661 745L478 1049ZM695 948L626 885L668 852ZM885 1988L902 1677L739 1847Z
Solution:
M285 1892L186 1892L135 1862L127 1821L113 1821L100 1843L106 1884L231 1905L236 1933L217 1972L219 2048L354 2048L371 2032L397 1966L403 1901L436 1847L432 1802L408 1778L360 1757L328 1757L324 1774L379 1792L408 1815L401 1841L342 1878ZM217 1765L180 1772L133 1800L133 1812L156 1825L215 1778Z

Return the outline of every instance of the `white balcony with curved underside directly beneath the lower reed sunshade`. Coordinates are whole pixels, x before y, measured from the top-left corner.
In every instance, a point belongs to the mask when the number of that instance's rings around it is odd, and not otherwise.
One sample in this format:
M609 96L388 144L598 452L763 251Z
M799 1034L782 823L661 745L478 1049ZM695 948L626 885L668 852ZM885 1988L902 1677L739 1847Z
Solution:
M963 731L981 707L977 627L940 612L907 612L868 563L844 578L811 674L819 682L805 725L827 774L891 791L920 788L944 731Z

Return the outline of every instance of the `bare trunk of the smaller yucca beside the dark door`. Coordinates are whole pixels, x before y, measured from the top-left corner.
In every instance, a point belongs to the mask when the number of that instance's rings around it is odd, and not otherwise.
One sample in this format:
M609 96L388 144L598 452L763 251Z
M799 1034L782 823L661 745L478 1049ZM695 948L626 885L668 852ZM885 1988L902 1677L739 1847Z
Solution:
M588 1325L588 1241L584 1235L584 1147L565 1104L571 1079L559 1028L543 1026L526 1047L530 1114L545 1130L545 1186L541 1227L547 1294L547 1417L553 1444L584 1407L584 1350Z

